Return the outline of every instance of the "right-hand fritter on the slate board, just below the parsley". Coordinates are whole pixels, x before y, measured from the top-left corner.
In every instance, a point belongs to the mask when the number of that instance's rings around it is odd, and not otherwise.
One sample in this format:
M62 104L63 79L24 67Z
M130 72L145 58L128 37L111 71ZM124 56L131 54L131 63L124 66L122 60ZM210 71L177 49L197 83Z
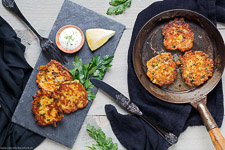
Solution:
M67 114L86 107L88 103L87 91L78 80L60 84L56 94L59 96L63 111Z

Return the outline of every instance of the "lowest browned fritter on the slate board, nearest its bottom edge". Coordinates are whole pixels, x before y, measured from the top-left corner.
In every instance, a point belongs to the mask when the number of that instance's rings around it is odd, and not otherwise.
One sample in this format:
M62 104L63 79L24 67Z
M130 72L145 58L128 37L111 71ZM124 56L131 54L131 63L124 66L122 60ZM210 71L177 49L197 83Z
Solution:
M63 120L62 106L52 92L41 89L37 91L33 99L31 110L35 115L35 121L40 126L52 124L56 127L56 122Z

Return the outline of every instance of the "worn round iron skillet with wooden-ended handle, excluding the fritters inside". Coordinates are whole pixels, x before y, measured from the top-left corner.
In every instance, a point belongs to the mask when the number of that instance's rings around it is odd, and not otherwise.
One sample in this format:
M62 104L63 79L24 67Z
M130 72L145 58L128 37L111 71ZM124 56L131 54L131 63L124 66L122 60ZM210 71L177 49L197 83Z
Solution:
M183 55L179 50L167 50L163 46L161 27L174 18L184 18L195 34L192 50L203 51L214 61L213 76L199 87L189 87L181 77L180 68L173 84L157 86L147 77L146 63L152 57L170 52L175 61ZM184 9L162 12L150 19L139 31L133 48L133 65L136 75L145 89L157 98L170 103L190 103L203 119L214 146L225 149L225 140L206 107L207 94L221 79L225 65L225 46L217 28L204 16Z

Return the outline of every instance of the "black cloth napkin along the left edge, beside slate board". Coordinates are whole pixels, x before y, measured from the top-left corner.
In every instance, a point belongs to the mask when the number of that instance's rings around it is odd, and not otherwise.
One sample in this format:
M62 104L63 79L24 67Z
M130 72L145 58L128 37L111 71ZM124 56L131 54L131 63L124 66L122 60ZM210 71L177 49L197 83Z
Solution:
M11 122L32 68L25 46L0 16L0 149L34 149L44 138Z

